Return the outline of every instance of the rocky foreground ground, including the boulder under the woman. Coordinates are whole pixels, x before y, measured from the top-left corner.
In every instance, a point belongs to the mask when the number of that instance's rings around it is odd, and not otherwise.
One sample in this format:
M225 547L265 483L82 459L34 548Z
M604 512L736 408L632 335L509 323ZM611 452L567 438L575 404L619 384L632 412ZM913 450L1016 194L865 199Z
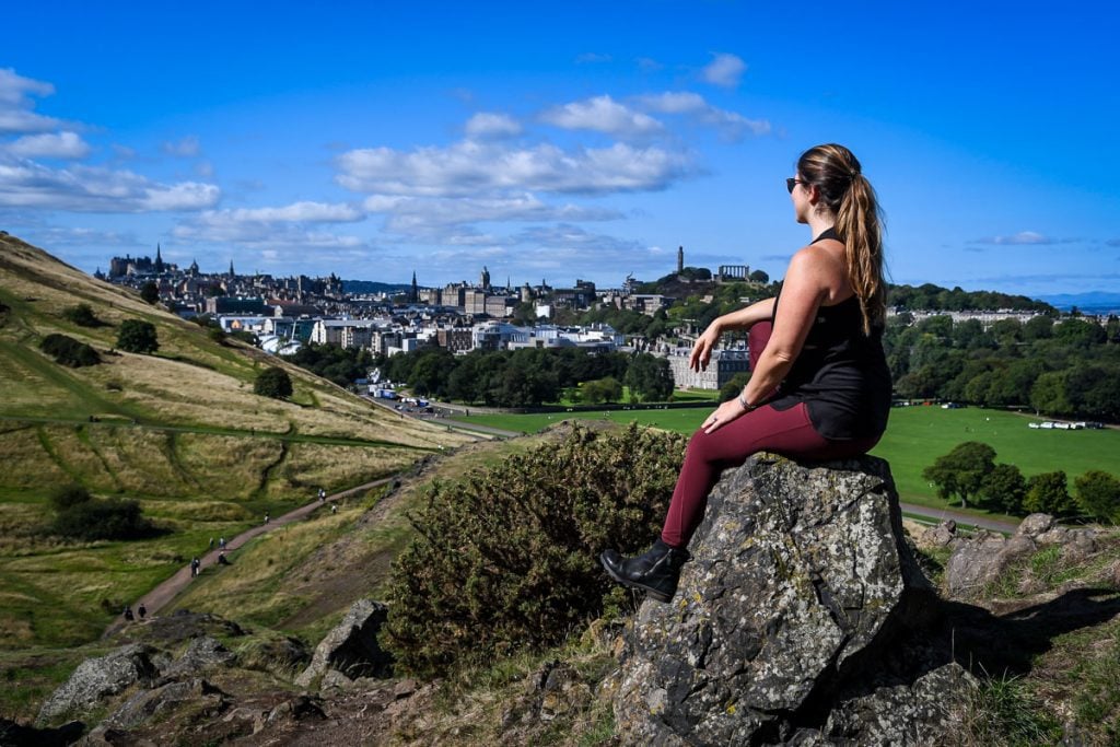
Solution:
M1012 744L977 710L996 708L992 683L1047 667L1062 688L1017 702L1053 713L1048 740L1108 744L1120 722L1120 692L1086 721L1074 663L1054 661L1073 634L1101 632L1086 656L1120 641L1114 530L1035 515L1010 536L907 535L884 463L756 459L725 475L693 554L673 604L456 680L394 676L373 600L314 652L157 617L78 666L36 723L0 723L0 744Z

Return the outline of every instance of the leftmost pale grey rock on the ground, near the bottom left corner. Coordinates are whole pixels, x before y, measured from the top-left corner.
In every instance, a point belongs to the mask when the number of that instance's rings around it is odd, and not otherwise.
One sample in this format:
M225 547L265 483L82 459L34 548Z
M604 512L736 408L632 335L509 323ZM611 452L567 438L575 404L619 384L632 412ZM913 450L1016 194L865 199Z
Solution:
M130 643L104 656L85 660L43 703L39 721L86 711L137 682L156 680L159 676L156 657L157 652L151 646Z

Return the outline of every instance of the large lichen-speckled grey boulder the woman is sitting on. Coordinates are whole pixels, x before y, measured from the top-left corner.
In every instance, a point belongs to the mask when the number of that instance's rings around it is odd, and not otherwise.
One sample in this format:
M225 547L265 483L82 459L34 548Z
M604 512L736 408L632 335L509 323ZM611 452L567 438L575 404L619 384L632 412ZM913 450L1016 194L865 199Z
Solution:
M673 601L644 603L627 632L615 698L624 744L948 734L969 675L895 645L918 637L935 595L885 461L757 455L725 473L690 549Z

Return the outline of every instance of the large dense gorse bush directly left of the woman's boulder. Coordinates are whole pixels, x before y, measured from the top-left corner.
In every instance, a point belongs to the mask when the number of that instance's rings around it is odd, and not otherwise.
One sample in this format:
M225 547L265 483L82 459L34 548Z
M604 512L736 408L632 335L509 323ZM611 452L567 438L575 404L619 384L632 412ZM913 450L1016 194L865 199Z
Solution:
M684 442L577 426L559 445L433 483L393 564L383 644L403 669L435 675L556 644L598 616L614 585L597 557L656 538Z

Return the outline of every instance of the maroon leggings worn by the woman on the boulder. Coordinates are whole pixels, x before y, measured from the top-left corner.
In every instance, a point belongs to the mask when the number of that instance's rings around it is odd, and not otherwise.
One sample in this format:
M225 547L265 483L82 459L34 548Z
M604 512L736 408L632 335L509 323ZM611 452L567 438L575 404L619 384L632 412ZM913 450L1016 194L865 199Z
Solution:
M752 371L769 339L769 332L768 323L750 329ZM752 454L774 451L793 459L843 459L867 454L878 441L878 436L842 441L824 438L813 428L804 403L788 410L775 410L767 404L736 418L713 433L698 430L684 452L684 466L676 478L661 539L674 548L685 547L703 519L708 493L719 474L728 467L738 467Z

